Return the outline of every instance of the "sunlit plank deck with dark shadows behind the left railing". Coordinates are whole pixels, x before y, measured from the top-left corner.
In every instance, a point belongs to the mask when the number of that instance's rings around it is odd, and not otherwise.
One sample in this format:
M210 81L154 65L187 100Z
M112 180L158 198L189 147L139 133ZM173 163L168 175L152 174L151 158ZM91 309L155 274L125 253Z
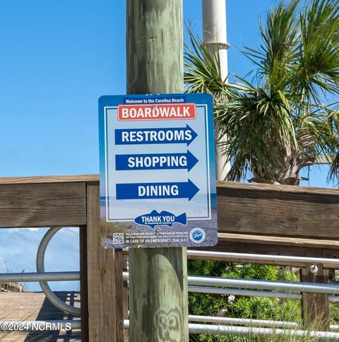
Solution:
M80 307L80 294L56 292L56 295L70 305ZM55 320L78 319L65 314L47 300L44 293L0 293L0 320ZM81 341L80 330L73 331L0 331L0 341Z

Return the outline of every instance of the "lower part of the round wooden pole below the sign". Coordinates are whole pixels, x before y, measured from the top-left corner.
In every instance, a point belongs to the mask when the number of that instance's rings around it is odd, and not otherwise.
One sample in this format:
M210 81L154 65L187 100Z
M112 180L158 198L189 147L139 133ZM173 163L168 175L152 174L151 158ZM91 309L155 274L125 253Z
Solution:
M165 336L165 333L161 334L162 319L176 322L173 328L176 335L169 335L167 341L189 341L185 329L188 315L186 275L186 248L129 250L129 322L131 326L134 320L139 328L136 331L129 330L131 342L161 341L162 336ZM181 295L178 295L179 292ZM182 302L177 303L178 299ZM148 322L150 319L153 319L153 326Z

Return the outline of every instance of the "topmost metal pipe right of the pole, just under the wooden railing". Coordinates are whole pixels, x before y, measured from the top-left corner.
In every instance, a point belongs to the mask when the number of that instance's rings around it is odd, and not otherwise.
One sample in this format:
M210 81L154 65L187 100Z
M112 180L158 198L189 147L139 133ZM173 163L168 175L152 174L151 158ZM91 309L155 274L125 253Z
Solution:
M210 252L187 250L187 255L191 257L212 257L218 259L252 259L255 261L294 261L309 264L335 264L339 265L339 259L328 258L312 258L312 257L292 257L284 255L268 255L268 254L249 254L249 253L232 253L232 252Z

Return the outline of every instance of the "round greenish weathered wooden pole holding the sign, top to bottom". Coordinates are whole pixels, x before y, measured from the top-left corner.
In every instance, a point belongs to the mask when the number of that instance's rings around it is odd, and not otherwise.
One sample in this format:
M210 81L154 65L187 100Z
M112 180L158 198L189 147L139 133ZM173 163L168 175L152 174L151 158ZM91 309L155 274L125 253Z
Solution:
M182 93L182 0L127 0L127 92ZM189 341L186 249L129 249L129 341Z

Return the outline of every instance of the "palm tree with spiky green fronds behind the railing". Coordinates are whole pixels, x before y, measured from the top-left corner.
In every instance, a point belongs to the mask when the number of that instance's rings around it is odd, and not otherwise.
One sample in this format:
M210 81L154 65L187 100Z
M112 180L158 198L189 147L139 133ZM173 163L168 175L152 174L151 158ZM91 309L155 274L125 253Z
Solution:
M244 49L251 81L223 83L218 57L191 31L185 47L186 91L214 95L227 179L251 171L252 182L299 184L317 163L339 179L339 0L280 0L259 30L259 49Z

